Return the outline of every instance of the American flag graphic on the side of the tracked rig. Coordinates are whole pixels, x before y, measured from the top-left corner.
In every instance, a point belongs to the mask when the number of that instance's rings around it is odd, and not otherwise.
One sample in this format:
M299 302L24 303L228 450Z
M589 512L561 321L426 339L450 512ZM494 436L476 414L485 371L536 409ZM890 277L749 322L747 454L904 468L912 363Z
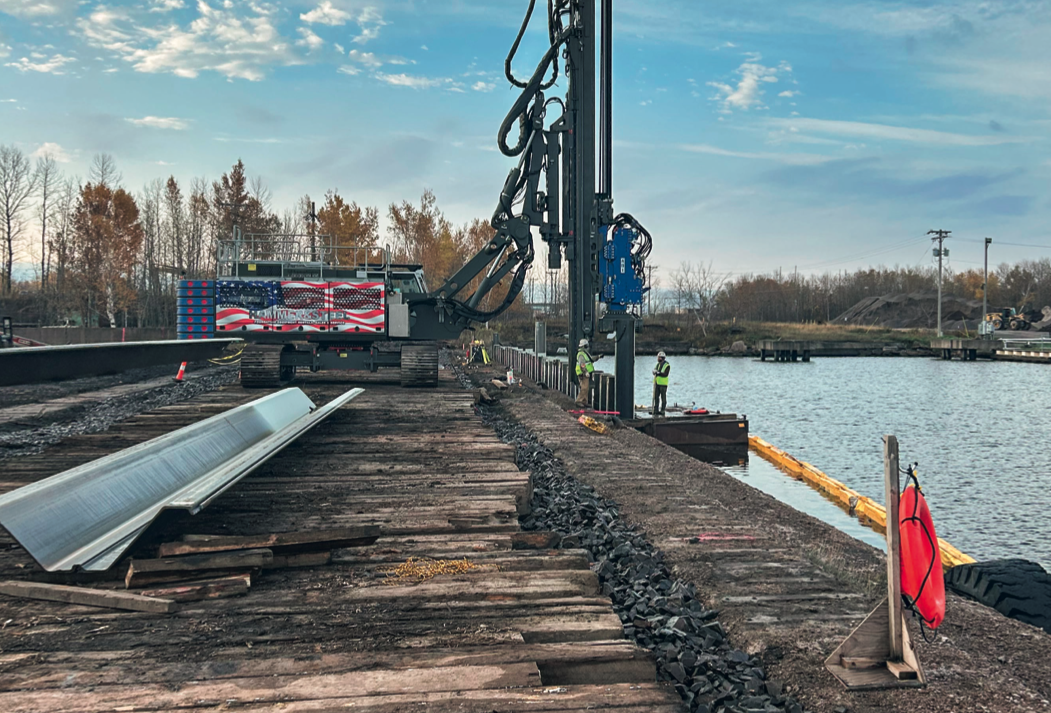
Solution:
M382 282L220 280L217 331L382 332Z

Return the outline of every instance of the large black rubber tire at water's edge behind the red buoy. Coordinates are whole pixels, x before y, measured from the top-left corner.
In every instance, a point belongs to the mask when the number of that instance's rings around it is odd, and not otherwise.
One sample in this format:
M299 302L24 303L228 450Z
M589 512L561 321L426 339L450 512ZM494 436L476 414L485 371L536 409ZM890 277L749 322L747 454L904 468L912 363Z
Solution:
M994 559L960 565L945 573L945 584L957 594L1051 634L1051 574L1035 562Z

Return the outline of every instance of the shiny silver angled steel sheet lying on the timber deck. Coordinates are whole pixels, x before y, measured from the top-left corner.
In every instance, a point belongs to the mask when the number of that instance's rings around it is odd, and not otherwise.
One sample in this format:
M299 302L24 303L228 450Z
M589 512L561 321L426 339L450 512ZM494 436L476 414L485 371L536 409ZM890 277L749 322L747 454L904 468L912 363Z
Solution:
M0 495L0 525L49 572L106 570L166 509L200 512L344 406L285 389Z

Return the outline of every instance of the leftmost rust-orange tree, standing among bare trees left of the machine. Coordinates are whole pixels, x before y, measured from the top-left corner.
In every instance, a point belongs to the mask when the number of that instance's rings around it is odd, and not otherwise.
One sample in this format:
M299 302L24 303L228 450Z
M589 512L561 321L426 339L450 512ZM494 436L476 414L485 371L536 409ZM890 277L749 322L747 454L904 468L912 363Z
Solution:
M143 243L139 206L123 188L88 183L74 211L74 277L85 324L117 326L135 301L132 273ZM126 322L126 318L125 318Z

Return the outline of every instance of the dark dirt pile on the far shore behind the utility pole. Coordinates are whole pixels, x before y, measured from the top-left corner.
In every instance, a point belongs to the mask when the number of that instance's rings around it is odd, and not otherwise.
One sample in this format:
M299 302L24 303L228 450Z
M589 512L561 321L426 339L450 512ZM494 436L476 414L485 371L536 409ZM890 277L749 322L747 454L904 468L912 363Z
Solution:
M937 321L937 292L907 292L865 298L834 320L886 329L933 329ZM942 296L943 327L960 323L974 329L982 321L982 302Z

